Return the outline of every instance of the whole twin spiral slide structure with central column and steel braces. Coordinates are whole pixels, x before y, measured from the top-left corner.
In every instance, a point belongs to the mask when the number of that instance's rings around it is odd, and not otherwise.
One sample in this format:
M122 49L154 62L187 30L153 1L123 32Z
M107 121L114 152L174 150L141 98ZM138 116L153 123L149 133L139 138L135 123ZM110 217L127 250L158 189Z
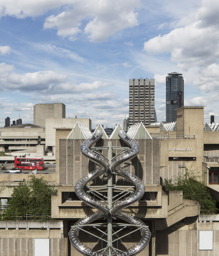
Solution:
M94 148L92 148L92 145L95 144L102 136L103 136L103 133L101 131L96 131L93 133L91 138L86 139L81 144L81 152L86 157L88 157L91 161L95 162L99 167L96 170L89 172L87 176L82 177L75 185L75 192L78 198L88 206L91 206L92 208L97 209L97 211L77 221L69 231L69 239L72 245L76 248L76 250L80 252L82 255L87 255L87 256L137 255L146 247L146 245L150 241L151 233L148 226L146 226L145 223L143 223L140 219L137 219L132 215L122 211L122 209L127 208L134 202L137 202L139 199L141 199L141 197L145 192L145 185L142 183L139 177L125 170L123 167L121 167L121 165L123 165L123 163L135 157L138 154L140 147L139 147L139 144L134 139L130 138L126 134L126 132L120 131L118 133L118 136L124 143L128 145L128 149L124 150L123 153L118 154L116 157L112 159L107 159L106 157L104 157L103 154L99 153L99 151L94 150ZM101 193L98 191L97 191L97 196L95 197L92 196L92 193L85 192L88 190L88 189L85 189L87 188L86 185L92 180L94 180L95 178L103 174L108 175L108 177L109 176L111 177L113 174L122 176L123 178L130 181L134 185L135 191L132 193L125 193L125 196L116 197L118 198L118 200L109 199L110 196L112 197L112 194L110 194L109 192L107 196L105 196L105 200L101 200L101 197L99 196L101 195ZM111 185L111 184L109 185L109 184L110 183L108 182L108 185L106 185L107 189L113 189L115 185ZM123 192L120 192L120 194L122 193ZM102 231L101 229L101 226L104 225L103 222L96 223L97 220L99 219L103 219L104 221L107 220L108 224L105 224L105 226L107 225L106 232ZM134 227L135 229L138 230L138 232L141 233L141 238L139 238L140 241L137 242L131 248L120 250L120 249L117 249L115 246L116 241L120 240L120 237L118 235L119 231L114 231L113 229L115 226L117 227L117 230L118 229L122 230L122 228L120 228L121 223L119 223L119 220L122 220L123 223L128 223L128 224L124 224L124 226L130 227L130 230L132 230L132 228ZM88 246L83 244L79 239L79 231L83 230L83 228L88 229L88 227L95 228L95 225L97 226L96 230L99 230L102 232L102 236L99 237L100 240L102 241L102 244L105 243L104 248L101 248L100 250L97 250L97 251L95 249L89 248ZM86 232L89 233L88 231ZM130 233L132 233L132 231ZM104 238L104 236L106 238ZM125 235L122 234L121 237L124 237L124 236ZM97 236L95 235L95 237Z

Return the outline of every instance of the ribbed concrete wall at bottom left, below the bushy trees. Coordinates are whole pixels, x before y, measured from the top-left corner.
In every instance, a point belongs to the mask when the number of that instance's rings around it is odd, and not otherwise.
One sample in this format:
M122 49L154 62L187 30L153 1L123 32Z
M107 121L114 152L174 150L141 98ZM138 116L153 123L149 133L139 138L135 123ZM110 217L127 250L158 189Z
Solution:
M0 255L36 256L36 238L49 238L50 255L64 256L62 221L1 221Z

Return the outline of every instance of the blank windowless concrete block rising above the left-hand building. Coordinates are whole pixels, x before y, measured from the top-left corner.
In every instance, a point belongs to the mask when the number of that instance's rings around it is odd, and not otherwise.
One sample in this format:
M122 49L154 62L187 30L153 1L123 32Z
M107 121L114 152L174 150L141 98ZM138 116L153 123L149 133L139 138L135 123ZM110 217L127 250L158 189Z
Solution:
M34 106L34 124L45 127L46 118L65 118L65 104L36 104Z

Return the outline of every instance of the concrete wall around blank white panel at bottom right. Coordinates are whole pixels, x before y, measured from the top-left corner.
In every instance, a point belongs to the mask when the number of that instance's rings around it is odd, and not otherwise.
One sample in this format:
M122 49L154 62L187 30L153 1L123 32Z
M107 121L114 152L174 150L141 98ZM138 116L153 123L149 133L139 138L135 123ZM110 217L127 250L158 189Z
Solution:
M219 222L199 222L197 217L185 218L165 230L156 231L157 256L218 256ZM213 249L199 250L199 231L213 231Z

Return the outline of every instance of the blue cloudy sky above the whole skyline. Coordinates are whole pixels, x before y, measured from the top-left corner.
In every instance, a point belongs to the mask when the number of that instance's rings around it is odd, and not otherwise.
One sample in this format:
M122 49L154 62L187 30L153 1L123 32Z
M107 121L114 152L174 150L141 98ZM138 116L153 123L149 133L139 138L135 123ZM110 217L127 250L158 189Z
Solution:
M128 117L129 82L184 77L184 105L219 121L218 0L0 0L0 127L33 123L37 103L114 128Z

